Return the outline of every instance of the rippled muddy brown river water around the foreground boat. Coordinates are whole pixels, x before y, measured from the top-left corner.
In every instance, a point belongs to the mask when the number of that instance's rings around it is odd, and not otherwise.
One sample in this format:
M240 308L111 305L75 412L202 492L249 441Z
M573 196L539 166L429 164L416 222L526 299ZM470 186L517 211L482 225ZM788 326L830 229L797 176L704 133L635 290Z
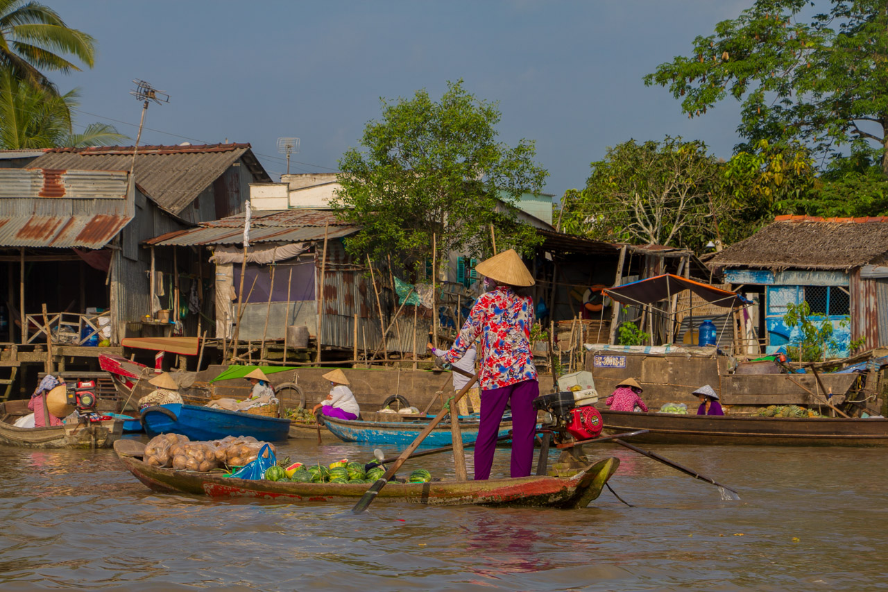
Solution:
M583 510L212 501L150 492L111 451L0 447L0 589L875 590L888 588L884 450L651 446ZM372 447L290 440L292 460ZM397 452L388 449L386 452ZM508 471L508 449L494 471ZM471 462L471 458L470 458ZM452 475L452 457L412 461ZM471 471L471 466L470 466Z

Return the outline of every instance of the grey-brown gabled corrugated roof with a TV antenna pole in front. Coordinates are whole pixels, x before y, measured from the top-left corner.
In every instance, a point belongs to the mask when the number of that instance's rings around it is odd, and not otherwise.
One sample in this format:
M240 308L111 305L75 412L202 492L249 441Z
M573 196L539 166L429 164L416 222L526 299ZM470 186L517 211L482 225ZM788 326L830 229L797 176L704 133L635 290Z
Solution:
M129 171L131 146L51 148L32 166L44 169ZM164 210L178 214L239 158L260 180L271 181L250 150L250 144L139 146L135 178L148 197Z

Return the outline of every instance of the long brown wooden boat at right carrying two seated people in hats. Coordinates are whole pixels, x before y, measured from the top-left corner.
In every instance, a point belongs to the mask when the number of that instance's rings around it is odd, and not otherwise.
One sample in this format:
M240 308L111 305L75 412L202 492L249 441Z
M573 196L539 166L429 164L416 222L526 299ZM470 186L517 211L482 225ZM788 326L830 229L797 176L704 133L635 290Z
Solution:
M885 446L888 418L777 418L599 410L604 431L648 430L647 444L755 444L780 446Z

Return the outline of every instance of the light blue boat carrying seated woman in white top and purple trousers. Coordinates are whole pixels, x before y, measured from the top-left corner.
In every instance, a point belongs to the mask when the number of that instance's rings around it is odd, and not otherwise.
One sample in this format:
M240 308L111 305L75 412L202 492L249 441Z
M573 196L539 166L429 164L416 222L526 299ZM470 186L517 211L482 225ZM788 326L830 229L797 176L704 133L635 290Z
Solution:
M343 442L361 442L364 444L410 444L428 425L430 418L405 419L401 421L364 421L340 420L336 417L322 416L324 425L330 433ZM459 429L463 435L463 444L470 444L478 439L478 420L460 420ZM506 436L511 429L511 420L500 424L498 436ZM450 422L441 422L425 437L422 446L449 446L453 444L450 436Z

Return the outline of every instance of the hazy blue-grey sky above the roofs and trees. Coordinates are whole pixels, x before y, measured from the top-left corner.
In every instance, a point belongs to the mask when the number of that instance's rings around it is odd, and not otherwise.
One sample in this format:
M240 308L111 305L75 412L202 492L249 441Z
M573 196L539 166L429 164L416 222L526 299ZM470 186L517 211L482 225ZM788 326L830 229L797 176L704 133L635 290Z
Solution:
M250 142L277 180L286 170L278 137L301 140L291 172L336 171L380 115L380 97L425 88L440 98L463 78L469 92L499 101L501 140L535 140L556 197L583 187L591 161L630 138L681 135L731 156L733 100L689 120L642 76L752 4L43 1L99 44L95 68L53 76L63 91L80 87L80 126L111 123L135 139L140 104L129 92L141 78L172 97L148 109L142 144Z

